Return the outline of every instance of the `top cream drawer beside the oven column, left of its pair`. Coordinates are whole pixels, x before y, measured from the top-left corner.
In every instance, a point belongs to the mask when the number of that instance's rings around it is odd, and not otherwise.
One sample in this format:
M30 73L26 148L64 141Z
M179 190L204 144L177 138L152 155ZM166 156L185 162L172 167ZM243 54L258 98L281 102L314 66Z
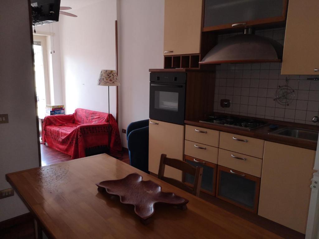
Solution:
M186 125L185 139L214 147L219 145L219 131Z

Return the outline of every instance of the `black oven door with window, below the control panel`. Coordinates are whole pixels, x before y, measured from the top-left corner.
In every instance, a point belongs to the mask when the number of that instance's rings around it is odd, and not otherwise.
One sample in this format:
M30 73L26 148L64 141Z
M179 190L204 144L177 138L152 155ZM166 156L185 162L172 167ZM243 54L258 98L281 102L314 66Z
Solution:
M184 124L185 84L150 83L150 119Z

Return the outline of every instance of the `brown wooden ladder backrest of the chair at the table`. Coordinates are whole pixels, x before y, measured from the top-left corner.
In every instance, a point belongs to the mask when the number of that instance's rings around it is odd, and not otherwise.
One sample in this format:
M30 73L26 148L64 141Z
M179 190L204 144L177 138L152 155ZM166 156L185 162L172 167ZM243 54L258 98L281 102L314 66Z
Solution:
M194 187L191 188L174 178L164 177L165 165L171 166L175 169L179 169L183 171L184 173L188 173L195 176ZM166 154L161 154L160 156L158 178L186 192L194 194L197 197L199 196L200 185L202 182L202 174L203 174L202 167L194 167L184 161L174 159L174 158L167 158Z

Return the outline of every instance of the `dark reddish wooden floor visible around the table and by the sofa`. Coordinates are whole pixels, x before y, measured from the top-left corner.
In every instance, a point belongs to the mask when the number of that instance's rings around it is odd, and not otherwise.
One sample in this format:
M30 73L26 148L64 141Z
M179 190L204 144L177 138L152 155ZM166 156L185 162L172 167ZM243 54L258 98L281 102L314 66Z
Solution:
M122 160L125 163L130 163L127 149L124 148L124 152L119 152L117 154L112 155L119 160ZM71 160L71 156L65 155L53 148L47 147L41 144L41 159L42 166L59 163L63 161ZM201 193L200 197L214 205L217 205L226 211L229 211L237 216L242 217L243 219L250 221L258 226L261 226L283 238L289 239L304 239L305 235L296 232L290 228L286 228L278 223L267 220L263 217L260 217L256 214L252 214L244 209L241 209L237 206L224 202L215 197L211 197L205 193ZM33 221L25 220L23 223L19 223L16 226L10 228L1 228L0 227L0 238L33 238L34 229L33 229Z

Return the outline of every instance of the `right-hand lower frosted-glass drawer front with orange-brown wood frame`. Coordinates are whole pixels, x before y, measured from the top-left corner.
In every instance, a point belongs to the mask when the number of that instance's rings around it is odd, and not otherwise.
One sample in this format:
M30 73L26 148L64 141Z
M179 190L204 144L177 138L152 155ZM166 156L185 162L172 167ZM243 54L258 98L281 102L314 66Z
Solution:
M257 213L260 178L218 165L216 197Z

